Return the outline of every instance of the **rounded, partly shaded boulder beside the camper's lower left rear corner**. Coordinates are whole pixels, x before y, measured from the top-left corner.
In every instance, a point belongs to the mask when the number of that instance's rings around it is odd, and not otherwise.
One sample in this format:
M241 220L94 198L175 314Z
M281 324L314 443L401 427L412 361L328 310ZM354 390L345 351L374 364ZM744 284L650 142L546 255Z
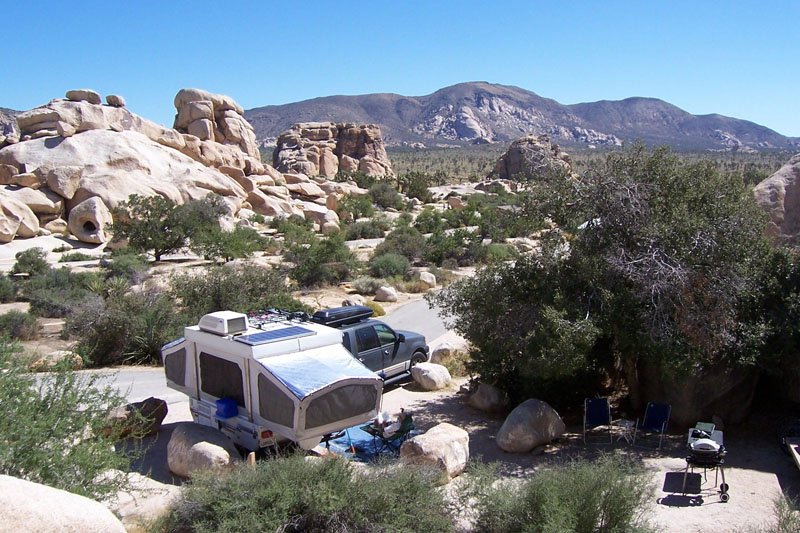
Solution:
M178 424L167 443L172 473L191 478L200 470L223 470L241 460L233 441L216 429L191 422Z

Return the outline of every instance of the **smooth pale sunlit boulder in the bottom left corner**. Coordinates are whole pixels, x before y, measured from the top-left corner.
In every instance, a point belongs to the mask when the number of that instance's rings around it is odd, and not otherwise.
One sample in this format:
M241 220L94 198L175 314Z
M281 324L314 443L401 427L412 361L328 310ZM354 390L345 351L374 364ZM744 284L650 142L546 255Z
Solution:
M0 475L2 531L125 533L102 504L65 490Z

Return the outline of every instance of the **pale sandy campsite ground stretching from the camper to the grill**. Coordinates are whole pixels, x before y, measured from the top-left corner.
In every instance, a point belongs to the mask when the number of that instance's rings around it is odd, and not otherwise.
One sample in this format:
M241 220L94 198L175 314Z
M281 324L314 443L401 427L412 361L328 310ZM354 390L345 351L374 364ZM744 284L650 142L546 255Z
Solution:
M498 462L503 475L526 478L548 464L575 457L592 458L599 454L625 454L651 473L655 492L648 518L659 531L667 533L727 533L750 531L772 519L773 502L781 494L800 495L800 471L792 459L783 453L769 429L774 420L753 415L750 422L725 431L729 450L725 478L730 485L730 501L722 503L714 485L714 472L702 492L683 496L680 485L686 465L686 433L674 428L667 436L662 450L634 448L625 440L612 445L584 445L580 421L567 420L567 433L548 446L541 455L509 454L495 444L495 435L503 418L492 418L465 402L459 388L466 382L457 378L446 390L426 392L413 382L390 387L383 396L383 409L392 414L400 408L414 415L417 428L426 431L440 422L464 428L470 434L470 457L486 462ZM176 424L190 420L188 402L170 407L159 435L151 442L145 461L138 470L150 471L161 482L179 484L166 468L166 445ZM701 479L700 474L689 485ZM720 481L721 482L721 481Z

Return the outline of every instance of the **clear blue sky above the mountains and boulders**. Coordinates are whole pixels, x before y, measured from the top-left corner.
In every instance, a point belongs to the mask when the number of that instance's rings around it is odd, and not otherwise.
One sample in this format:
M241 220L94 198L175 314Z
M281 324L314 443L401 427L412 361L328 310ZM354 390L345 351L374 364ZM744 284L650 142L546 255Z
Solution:
M0 106L68 89L172 124L182 87L245 109L463 81L564 104L649 96L800 136L800 1L44 2L2 6Z

